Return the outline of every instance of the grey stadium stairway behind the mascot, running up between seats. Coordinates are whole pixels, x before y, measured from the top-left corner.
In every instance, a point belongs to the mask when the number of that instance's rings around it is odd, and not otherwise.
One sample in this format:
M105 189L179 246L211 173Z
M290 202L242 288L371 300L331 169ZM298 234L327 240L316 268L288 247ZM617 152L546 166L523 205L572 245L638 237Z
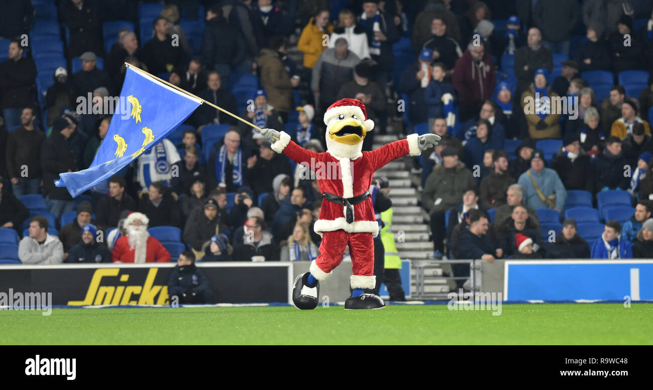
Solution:
M396 141L397 135L375 135L374 149ZM392 231L399 257L402 260L432 260L433 242L430 240L428 215L419 206L419 193L411 180L411 157L403 157L385 165L375 176L385 176L390 182L392 199ZM438 295L451 291L449 282L442 278L440 265L424 267L424 294ZM449 268L450 267L445 267ZM443 272L444 271L444 272ZM415 291L415 272L411 273L411 291Z

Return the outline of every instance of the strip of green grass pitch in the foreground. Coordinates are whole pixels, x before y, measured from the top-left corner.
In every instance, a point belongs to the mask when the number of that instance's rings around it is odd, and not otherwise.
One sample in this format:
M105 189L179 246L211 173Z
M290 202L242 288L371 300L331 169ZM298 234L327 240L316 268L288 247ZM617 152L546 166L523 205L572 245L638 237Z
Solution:
M653 304L0 311L0 344L653 344Z

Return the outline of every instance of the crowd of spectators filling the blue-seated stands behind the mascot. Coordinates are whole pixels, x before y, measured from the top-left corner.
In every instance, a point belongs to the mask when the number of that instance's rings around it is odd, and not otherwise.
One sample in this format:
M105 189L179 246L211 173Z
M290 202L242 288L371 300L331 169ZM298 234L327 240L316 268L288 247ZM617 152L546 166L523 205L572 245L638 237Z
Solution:
M435 257L650 255L652 11L640 0L14 1L0 15L0 224L24 236L24 263L180 258L148 233L157 227L180 229L198 260L317 257L317 181L208 105L82 197L54 185L91 165L127 62L317 152L325 109L345 97L375 122L364 150L374 133L440 135L414 162ZM44 68L22 34L38 41L52 20L63 64ZM637 88L622 82L629 71L646 75ZM569 112L554 110L558 97ZM591 207L614 189L637 204L632 218L582 244L567 192L587 191ZM558 213L553 240L541 209Z

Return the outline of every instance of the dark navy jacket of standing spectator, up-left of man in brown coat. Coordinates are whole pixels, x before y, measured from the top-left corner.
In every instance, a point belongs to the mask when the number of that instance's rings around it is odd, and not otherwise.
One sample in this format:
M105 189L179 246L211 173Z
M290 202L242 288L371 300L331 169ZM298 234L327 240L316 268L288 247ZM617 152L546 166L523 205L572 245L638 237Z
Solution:
M215 64L227 64L233 70L247 56L245 40L234 25L227 23L222 16L215 16L206 21L202 39L202 55L208 69Z

